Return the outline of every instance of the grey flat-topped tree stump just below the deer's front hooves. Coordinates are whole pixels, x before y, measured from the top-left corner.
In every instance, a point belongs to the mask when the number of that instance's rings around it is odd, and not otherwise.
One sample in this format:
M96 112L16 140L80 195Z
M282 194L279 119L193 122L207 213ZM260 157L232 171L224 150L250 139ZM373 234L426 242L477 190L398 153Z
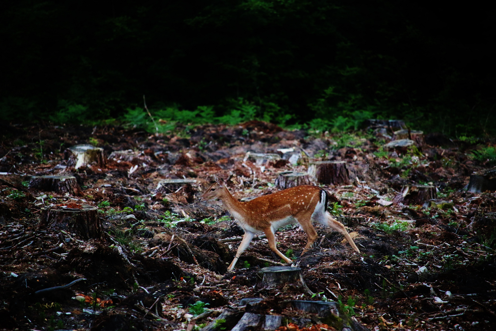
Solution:
M257 273L257 277L258 281L255 286L257 290L291 285L300 288L304 293L313 294L303 279L301 268L294 266L269 266L261 268Z

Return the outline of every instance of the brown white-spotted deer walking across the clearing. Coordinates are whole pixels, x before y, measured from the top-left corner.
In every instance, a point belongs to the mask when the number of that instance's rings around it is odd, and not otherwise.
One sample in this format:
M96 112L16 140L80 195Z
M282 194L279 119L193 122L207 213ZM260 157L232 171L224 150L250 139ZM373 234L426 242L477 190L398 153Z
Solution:
M327 211L329 194L320 187L313 185L295 186L247 202L241 202L231 195L222 179L215 175L214 178L215 183L210 185L199 200L220 199L226 209L245 230L236 257L229 265L228 271L234 269L236 262L247 249L255 234L262 232L265 234L272 252L281 257L286 263L291 263L292 261L277 249L274 231L294 223L299 223L308 237L302 256L310 250L318 237L312 224L313 221L341 233L353 250L360 253L344 225L336 221Z

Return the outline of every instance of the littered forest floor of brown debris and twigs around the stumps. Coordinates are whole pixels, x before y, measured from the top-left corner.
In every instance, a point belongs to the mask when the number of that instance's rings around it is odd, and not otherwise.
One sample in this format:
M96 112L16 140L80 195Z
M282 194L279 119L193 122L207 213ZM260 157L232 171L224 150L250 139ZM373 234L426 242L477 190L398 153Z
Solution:
M465 188L470 174L488 168L467 156L472 146L437 136L418 149L387 150L387 139L370 132L309 135L255 121L186 129L154 136L112 126L3 127L1 330L198 330L242 298L296 295L339 299L369 330L496 329L496 196ZM63 151L83 143L132 157L71 169ZM247 158L278 149L298 162ZM279 172L326 159L347 161L350 183L321 187L361 253L315 225L318 239L300 256L306 235L287 226L276 232L278 248L315 295L255 290L257 271L281 261L266 239L255 238L227 272L243 230L220 201L198 201L213 175L237 199L259 197L278 191ZM73 174L80 192L29 187L31 176L58 174ZM195 182L157 189L163 179ZM425 184L436 199L392 203L405 186ZM68 204L98 207L100 239L40 223L42 208ZM34 294L79 278L86 280ZM210 315L195 319L204 311Z

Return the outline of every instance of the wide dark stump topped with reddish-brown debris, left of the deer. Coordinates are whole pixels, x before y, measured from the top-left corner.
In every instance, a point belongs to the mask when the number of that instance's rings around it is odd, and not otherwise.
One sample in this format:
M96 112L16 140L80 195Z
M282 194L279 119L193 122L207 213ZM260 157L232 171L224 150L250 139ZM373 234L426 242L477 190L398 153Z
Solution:
M69 203L67 206L42 208L40 225L64 230L83 239L100 238L101 222L97 207Z

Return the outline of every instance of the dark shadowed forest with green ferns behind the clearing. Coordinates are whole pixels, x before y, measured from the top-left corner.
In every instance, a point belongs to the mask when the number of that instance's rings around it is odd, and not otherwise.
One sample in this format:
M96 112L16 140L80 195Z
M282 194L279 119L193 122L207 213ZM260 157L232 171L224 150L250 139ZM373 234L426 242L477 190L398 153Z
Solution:
M155 112L290 128L374 117L494 134L495 14L408 0L5 1L0 117L124 119L146 95Z

